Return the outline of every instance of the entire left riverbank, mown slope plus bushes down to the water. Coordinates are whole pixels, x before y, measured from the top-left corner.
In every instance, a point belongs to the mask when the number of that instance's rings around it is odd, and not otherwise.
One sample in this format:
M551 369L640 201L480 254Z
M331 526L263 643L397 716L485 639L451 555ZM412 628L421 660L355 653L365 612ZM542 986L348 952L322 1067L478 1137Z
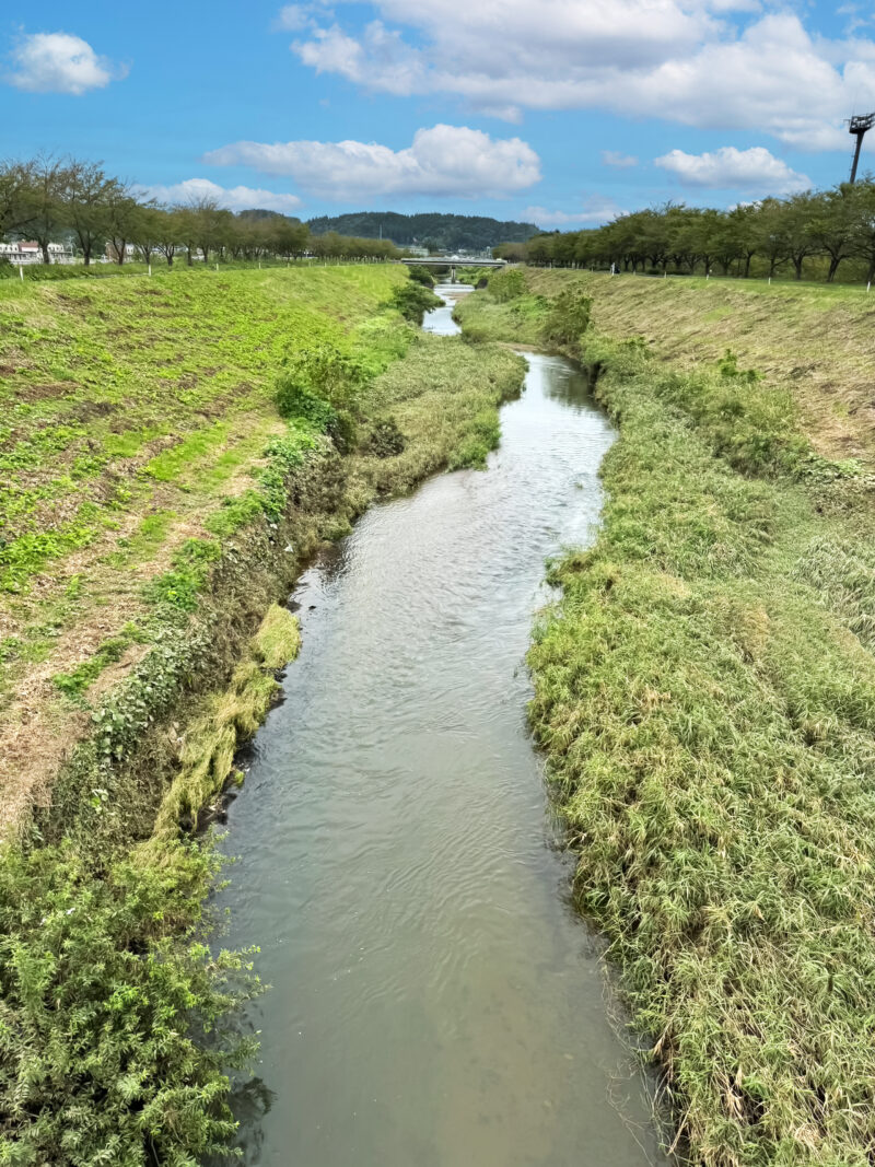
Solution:
M0 1161L196 1162L258 985L203 946L189 837L296 649L275 601L373 497L481 462L523 366L419 334L397 268L9 282Z

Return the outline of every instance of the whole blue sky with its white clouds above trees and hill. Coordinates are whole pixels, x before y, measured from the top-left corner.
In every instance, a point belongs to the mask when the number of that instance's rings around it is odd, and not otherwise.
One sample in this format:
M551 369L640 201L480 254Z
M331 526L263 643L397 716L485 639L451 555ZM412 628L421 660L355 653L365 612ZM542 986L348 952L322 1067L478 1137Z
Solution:
M6 0L0 18L5 154L303 218L574 228L730 205L844 179L842 118L869 110L873 4Z

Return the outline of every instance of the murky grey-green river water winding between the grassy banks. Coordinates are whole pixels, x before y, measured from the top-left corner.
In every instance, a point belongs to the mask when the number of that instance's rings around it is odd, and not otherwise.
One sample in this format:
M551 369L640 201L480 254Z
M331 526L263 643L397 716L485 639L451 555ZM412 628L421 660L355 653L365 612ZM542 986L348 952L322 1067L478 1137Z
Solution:
M224 844L226 942L273 986L247 1163L663 1161L526 728L545 558L592 538L614 434L568 362L528 362L485 473L372 508L294 593Z

